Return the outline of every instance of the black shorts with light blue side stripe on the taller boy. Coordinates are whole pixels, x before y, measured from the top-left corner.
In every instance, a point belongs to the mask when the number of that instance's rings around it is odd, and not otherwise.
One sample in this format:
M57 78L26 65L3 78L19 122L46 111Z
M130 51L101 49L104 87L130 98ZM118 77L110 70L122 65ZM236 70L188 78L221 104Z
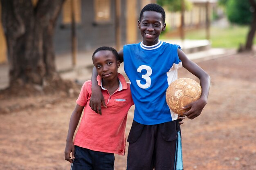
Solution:
M132 122L127 170L183 170L179 120L157 125Z

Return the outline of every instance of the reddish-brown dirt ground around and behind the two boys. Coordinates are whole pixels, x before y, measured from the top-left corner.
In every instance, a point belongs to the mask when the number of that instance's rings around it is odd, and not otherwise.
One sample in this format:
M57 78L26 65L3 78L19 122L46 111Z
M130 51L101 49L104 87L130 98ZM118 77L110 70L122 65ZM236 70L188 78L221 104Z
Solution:
M182 125L184 170L256 170L256 54L197 63L211 90L202 114ZM183 68L179 77L196 79ZM63 96L0 96L0 170L70 169L64 149L76 96ZM133 108L127 135L132 118ZM126 156L115 156L115 170L126 169Z

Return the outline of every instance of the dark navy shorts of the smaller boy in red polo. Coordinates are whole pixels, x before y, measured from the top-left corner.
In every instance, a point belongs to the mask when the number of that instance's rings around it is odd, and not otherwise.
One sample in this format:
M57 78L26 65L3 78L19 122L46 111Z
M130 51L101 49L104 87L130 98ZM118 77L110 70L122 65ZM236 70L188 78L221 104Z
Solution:
M71 170L114 170L113 153L98 152L75 146L75 159Z

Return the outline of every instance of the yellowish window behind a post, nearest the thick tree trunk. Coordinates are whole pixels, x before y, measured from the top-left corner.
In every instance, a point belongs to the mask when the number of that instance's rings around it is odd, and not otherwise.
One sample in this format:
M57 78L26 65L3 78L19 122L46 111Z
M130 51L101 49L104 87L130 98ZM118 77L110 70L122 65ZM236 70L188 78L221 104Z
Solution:
M63 4L63 24L71 24L71 3L74 3L74 18L76 23L81 22L81 0L66 0Z

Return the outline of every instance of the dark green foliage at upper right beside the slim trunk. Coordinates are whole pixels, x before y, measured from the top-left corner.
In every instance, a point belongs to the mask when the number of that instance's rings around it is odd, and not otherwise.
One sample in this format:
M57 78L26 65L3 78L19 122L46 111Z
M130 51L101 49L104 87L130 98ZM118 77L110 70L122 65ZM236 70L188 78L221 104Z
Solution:
M227 17L229 21L240 25L250 24L252 22L250 7L248 0L228 0Z

